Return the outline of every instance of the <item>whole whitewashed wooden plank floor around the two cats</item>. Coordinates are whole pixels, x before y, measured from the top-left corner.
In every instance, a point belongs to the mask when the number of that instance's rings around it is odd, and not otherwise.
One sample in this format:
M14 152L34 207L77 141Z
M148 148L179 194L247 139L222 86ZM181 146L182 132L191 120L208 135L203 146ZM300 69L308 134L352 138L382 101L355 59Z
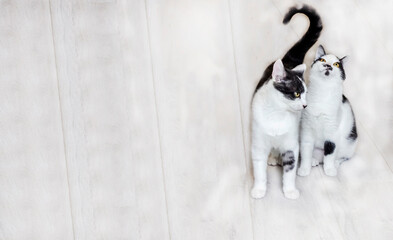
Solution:
M250 198L252 93L301 2L0 0L0 239L393 239L390 0L304 1L350 56L357 155Z

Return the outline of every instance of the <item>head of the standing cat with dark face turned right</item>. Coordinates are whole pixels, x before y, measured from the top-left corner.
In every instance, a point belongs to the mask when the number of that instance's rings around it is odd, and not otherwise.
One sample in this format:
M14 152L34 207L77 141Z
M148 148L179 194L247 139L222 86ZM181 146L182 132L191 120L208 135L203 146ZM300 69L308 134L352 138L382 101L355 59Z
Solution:
M281 95L281 101L293 111L300 111L307 106L307 87L303 79L304 64L294 69L285 69L281 61L273 66L273 86Z

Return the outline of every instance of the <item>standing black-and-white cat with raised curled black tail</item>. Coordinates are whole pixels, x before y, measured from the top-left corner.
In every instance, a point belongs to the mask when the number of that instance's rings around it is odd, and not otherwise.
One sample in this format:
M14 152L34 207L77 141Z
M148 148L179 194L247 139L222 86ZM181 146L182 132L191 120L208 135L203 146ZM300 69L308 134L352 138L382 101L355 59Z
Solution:
M296 188L296 168L299 155L299 124L301 111L307 106L307 87L303 79L307 51L318 40L322 21L316 11L304 5L292 7L283 23L297 14L305 14L310 26L304 36L285 54L282 60L270 64L264 71L252 99L251 158L254 172L253 198L266 194L266 168L269 153L279 152L283 166L283 192L289 199L299 197Z

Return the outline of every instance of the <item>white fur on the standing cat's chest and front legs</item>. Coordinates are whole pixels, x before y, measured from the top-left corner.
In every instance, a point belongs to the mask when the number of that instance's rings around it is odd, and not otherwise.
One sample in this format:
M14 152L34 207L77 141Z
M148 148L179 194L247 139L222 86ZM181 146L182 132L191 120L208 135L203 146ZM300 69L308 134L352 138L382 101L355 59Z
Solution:
M282 65L280 60L277 62ZM304 70L305 65L298 69ZM304 92L299 99L289 100L274 88L273 82L280 81L282 71L283 67L275 64L273 81L270 80L256 92L252 103L251 155L255 180L251 195L254 198L265 196L267 160L271 150L280 153L293 151L294 168L288 172L283 171L283 192L290 199L299 197L295 178L299 155L299 122L303 105L306 105L306 96ZM305 84L304 88L306 89Z

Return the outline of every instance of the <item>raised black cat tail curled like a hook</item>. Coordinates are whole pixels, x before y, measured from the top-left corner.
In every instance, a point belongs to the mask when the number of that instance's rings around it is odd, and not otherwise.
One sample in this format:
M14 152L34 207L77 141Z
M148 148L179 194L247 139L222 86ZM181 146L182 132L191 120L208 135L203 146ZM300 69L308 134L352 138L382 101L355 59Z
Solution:
M282 61L288 68L294 68L303 63L307 51L317 42L322 31L322 21L319 14L314 8L307 5L300 8L290 8L284 17L283 23L287 24L297 13L306 15L310 21L310 26L303 37L283 57Z

